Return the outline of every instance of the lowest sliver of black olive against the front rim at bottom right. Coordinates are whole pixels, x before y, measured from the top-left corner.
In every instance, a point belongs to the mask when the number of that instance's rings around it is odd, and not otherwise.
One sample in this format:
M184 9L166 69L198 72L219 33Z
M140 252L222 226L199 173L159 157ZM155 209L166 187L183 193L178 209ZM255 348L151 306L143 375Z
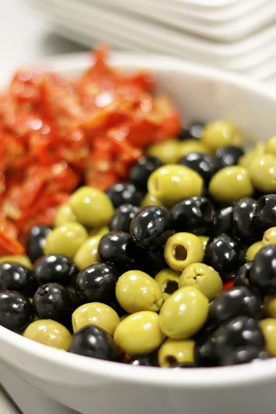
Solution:
M267 351L255 346L241 346L222 358L221 365L248 364L248 362L262 361L272 357Z

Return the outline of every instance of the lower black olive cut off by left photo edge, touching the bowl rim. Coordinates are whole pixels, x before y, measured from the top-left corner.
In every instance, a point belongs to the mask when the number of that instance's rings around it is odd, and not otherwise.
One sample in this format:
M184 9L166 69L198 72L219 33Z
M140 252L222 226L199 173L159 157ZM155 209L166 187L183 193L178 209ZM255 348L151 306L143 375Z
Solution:
M20 332L25 329L34 317L29 299L13 290L0 292L0 325L10 331Z

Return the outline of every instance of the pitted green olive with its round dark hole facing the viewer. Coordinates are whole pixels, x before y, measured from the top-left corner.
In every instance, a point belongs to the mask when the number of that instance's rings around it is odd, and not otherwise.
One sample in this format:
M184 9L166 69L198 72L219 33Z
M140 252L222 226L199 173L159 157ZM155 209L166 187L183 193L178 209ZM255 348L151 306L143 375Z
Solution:
M176 233L169 237L165 244L166 263L177 272L181 272L189 264L201 262L203 257L203 244L192 233Z

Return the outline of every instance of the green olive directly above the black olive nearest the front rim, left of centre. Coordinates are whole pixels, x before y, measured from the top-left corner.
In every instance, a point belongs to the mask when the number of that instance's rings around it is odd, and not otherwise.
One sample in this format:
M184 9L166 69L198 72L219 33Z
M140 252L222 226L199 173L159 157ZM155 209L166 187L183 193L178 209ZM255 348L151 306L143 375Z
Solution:
M110 306L99 302L92 302L79 306L72 313L72 326L74 332L86 325L96 325L113 335L120 318Z

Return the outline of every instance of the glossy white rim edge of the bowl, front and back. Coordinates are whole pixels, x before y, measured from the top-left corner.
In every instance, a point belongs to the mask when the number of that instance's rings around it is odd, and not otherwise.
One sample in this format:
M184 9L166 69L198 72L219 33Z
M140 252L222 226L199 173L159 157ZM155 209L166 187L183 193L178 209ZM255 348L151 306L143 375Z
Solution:
M40 67L43 65L43 68L54 72L69 73L85 69L90 62L91 56L87 52L81 52L61 57L39 59L32 62L31 66ZM191 63L180 58L152 55L150 53L114 52L110 54L110 63L119 67L125 66L130 70L135 68L148 69L153 72L155 70L179 70L184 75L193 75L205 79L213 79L218 83L239 86L243 90L249 90L276 103L276 95L269 86L264 86L241 75L230 74L223 70ZM3 326L0 326L0 346L1 342L5 342L8 346L15 348L19 353L23 351L29 357L33 356L37 359L43 359L44 362L50 362L79 373L148 386L170 386L173 388L183 388L184 386L185 388L210 388L216 386L221 388L226 386L248 386L250 383L259 383L263 380L268 381L270 378L276 377L276 358L252 364L227 367L186 368L184 370L163 368L161 371L162 375L160 375L160 368L133 367L121 363L118 365L117 362L83 357L56 348L50 348L50 346L47 346L47 352L45 352L46 345L32 342L30 339L9 331Z

